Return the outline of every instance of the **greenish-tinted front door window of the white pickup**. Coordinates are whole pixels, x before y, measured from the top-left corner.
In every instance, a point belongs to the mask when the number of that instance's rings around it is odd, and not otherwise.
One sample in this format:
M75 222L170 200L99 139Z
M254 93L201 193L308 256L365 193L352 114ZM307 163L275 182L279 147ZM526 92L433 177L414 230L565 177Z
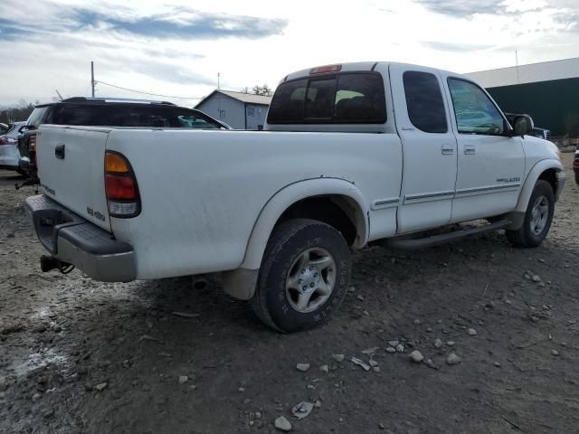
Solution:
M459 133L500 135L505 120L489 96L474 83L449 79L452 106Z

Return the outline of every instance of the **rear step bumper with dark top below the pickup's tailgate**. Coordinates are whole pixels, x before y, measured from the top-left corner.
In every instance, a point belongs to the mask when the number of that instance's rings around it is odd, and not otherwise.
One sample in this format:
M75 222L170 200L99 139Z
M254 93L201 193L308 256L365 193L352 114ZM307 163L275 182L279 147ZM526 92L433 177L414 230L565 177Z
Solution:
M52 257L103 282L128 282L137 276L135 252L128 243L88 222L43 194L26 199L34 231Z

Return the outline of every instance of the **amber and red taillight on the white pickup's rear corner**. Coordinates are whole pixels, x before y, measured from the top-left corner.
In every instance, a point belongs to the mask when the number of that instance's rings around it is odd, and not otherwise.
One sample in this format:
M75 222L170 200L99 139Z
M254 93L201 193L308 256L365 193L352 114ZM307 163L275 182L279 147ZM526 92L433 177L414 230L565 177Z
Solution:
M125 156L105 153L105 192L111 217L135 217L141 211L137 179Z

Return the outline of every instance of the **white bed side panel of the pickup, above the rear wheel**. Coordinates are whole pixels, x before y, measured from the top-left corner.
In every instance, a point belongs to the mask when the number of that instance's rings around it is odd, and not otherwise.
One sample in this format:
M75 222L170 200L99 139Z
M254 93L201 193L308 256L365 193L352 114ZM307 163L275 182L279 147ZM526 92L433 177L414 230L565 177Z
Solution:
M134 246L138 278L237 269L264 205L301 180L354 183L365 212L400 193L394 134L115 129L107 147L127 156L137 176L142 212L111 227Z

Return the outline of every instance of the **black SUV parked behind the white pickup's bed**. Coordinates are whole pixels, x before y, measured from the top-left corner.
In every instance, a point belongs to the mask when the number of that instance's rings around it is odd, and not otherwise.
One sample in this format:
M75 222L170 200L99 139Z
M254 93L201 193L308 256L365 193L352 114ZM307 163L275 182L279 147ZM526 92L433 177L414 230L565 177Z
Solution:
M20 169L38 181L36 175L36 130L42 124L89 127L175 127L231 129L196 109L179 107L166 101L76 97L34 108L26 125L20 128L18 149Z

